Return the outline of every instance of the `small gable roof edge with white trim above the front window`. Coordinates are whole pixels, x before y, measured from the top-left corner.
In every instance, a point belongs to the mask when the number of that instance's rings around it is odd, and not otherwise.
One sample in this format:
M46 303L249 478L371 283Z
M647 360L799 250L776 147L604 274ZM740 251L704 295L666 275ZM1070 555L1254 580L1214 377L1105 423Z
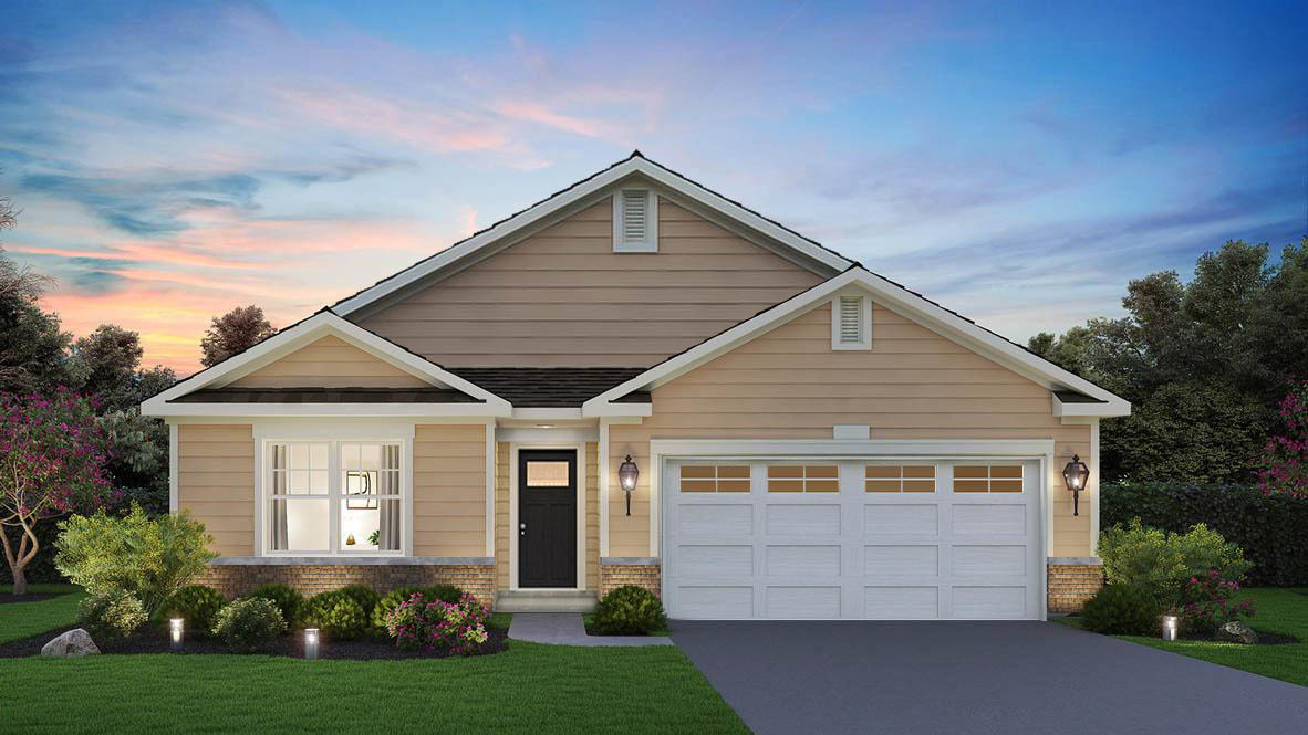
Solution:
M269 409L269 415L276 413L279 409L284 411L286 406L285 401L272 401L267 397L260 401L234 401L222 394L221 397L216 397L213 402L207 403L200 403L196 398L183 399L183 397L195 394L196 392L225 389L237 379L271 364L272 362L327 336L339 337L341 341L358 347L374 358L390 363L404 372L424 380L433 388L442 390L441 396L451 397L453 393L450 392L456 392L467 396L472 399L472 402L475 402L475 405L470 405L468 401L462 399L409 401L415 405L415 413L434 410L433 405L436 405L442 406L442 410L459 415L509 415L510 405L500 396L475 385L467 379L445 369L421 355L411 352L383 337L341 319L340 316L332 313L331 309L319 311L309 319L293 324L272 337L254 345L249 350L233 355L213 367L203 369L186 380L178 381L167 390L164 390L162 393L143 402L141 414L153 416L220 415L229 413L234 414L241 410L252 411L255 407ZM413 389L408 390L413 392ZM417 390L421 392L422 389ZM211 396L213 394L211 393ZM381 396L381 392L374 389L371 396ZM340 397L336 397L336 399L330 402L311 399L305 401L303 398L311 398L311 396L301 396L301 399L294 401L294 403L301 406L319 406L319 410L307 411L315 415L326 415L330 411L326 406L331 405L351 405L357 407L358 411L366 410L366 406L370 405L394 405L394 401L358 402L340 399ZM254 406L251 406L251 403L254 403ZM446 405L451 406L443 409ZM285 414L283 413L277 415Z

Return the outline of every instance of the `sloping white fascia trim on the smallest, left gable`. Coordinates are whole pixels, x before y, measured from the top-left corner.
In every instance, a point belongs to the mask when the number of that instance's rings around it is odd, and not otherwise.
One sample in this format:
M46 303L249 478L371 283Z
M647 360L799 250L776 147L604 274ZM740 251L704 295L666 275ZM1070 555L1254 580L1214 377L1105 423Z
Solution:
M468 396L480 398L487 402L487 407L492 407L501 413L494 413L490 415L508 415L510 409L509 401L490 393L489 390L468 383L466 379L454 375L453 372L441 368L439 366L430 363L407 350L403 350L398 345L388 342L366 329L362 329L330 311L315 313L314 316L301 321L300 324L279 332L277 334L264 339L263 342L250 347L245 352L235 355L207 371L201 371L177 385L169 388L167 390L146 399L141 403L141 414L149 416L167 416L167 415L196 415L196 413L181 410L178 405L169 405L169 401L179 398L195 390L208 386L224 386L241 376L249 375L260 367L264 367L279 358L289 355L290 352L309 345L317 339L326 336L336 336L343 341L364 350L365 352L373 355L377 359L385 360L404 372L425 380L433 385L442 388L454 388L462 390ZM194 403L199 406L199 403ZM464 403L467 406L467 403ZM247 406L249 407L249 406ZM416 406L411 406L416 407ZM215 413L213 406L205 409L200 413ZM430 410L430 409L428 409ZM434 415L445 415L446 409L439 407L434 411ZM220 414L221 415L221 414ZM262 414L254 414L262 415ZM271 414L269 414L271 415ZM294 415L289 414L288 415ZM317 414L306 414L317 415ZM347 410L340 414L327 414L327 415L358 415L357 411ZM470 415L480 415L472 413Z

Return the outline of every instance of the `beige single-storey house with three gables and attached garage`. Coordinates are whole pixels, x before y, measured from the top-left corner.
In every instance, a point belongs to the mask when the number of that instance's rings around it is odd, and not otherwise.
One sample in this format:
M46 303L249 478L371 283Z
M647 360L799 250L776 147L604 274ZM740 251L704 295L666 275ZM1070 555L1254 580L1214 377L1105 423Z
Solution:
M1042 619L1101 584L1130 405L637 151L143 411L229 594Z

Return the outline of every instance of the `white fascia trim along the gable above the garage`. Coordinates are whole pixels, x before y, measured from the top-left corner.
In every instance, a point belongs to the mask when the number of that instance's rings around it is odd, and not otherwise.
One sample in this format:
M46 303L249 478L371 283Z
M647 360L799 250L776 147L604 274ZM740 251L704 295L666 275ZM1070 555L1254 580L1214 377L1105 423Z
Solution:
M1112 413L1100 415L1125 416L1130 414L1130 403L1124 398L1104 390L1088 380L1073 375L1036 355L1018 347L1016 345L997 337L968 320L948 312L947 309L927 302L922 296L913 294L889 281L870 273L862 268L852 268L840 275L820 283L803 294L798 294L759 316L738 324L731 329L708 339L696 347L666 360L644 373L600 393L582 405L583 411L598 411L610 401L630 393L632 390L653 389L684 375L701 364L730 352L755 337L773 329L778 324L787 321L816 304L831 299L833 294L850 286L861 286L871 292L872 300L891 311L903 313L905 317L925 324L942 337L950 338L976 352L985 355L997 363L1023 375L1037 384L1050 389L1070 388L1079 390L1093 398L1107 401ZM590 414L587 414L590 415Z

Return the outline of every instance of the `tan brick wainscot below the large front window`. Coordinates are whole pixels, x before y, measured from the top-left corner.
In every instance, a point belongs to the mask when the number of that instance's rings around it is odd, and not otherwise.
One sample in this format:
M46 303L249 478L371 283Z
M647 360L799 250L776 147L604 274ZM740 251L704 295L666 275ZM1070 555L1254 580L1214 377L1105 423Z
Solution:
M271 582L294 587L305 597L354 584L368 585L378 594L402 585L446 584L472 593L490 607L496 598L493 564L213 564L195 582L209 585L229 599Z

